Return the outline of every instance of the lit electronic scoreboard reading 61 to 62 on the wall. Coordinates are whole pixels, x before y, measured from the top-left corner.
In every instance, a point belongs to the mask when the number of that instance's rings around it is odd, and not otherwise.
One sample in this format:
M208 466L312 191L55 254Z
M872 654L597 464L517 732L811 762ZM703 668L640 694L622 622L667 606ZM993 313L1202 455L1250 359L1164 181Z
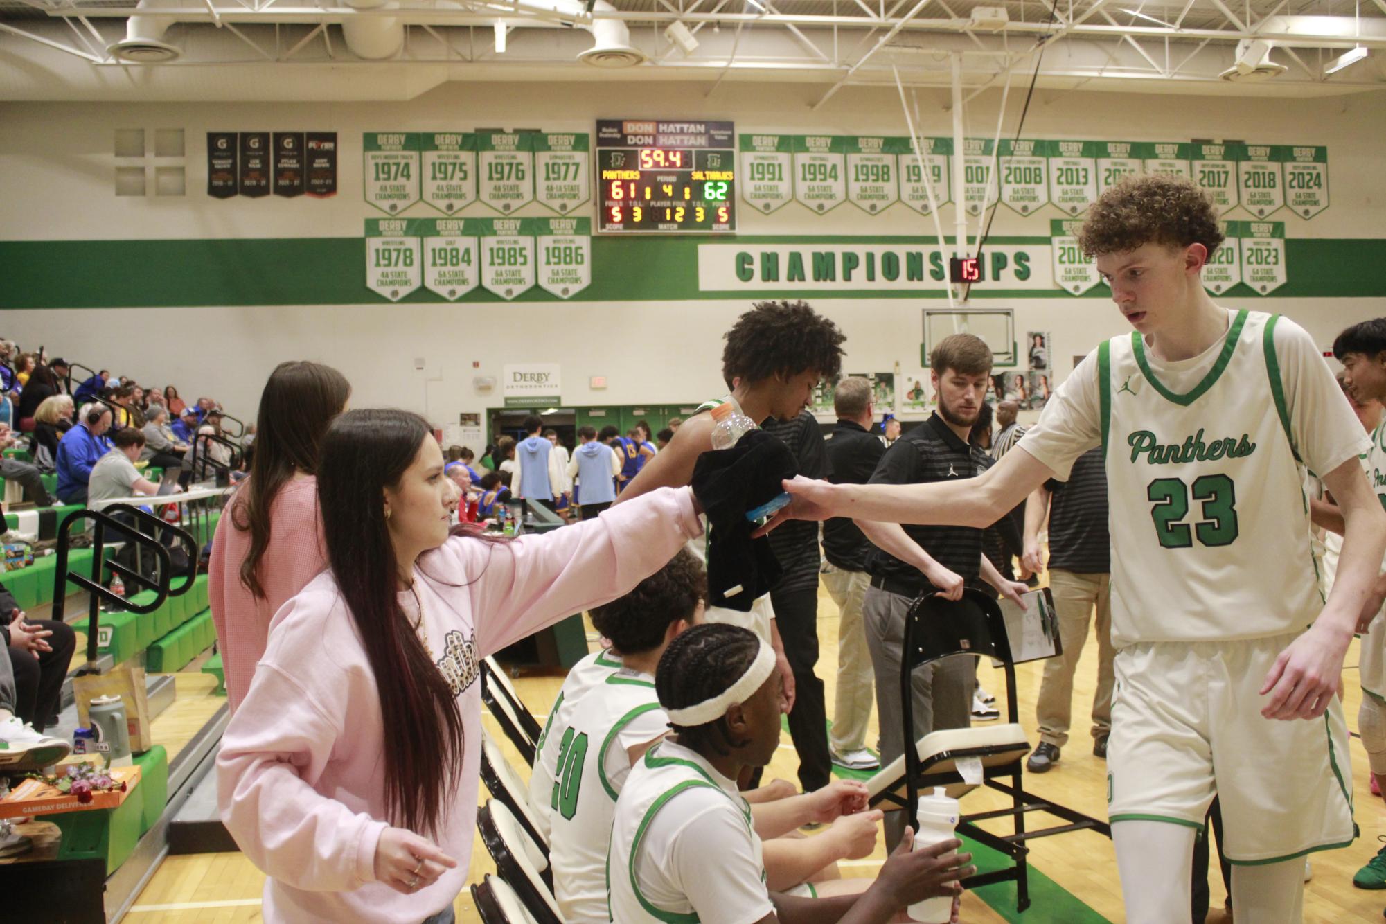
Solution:
M732 123L599 119L597 201L607 234L735 233Z

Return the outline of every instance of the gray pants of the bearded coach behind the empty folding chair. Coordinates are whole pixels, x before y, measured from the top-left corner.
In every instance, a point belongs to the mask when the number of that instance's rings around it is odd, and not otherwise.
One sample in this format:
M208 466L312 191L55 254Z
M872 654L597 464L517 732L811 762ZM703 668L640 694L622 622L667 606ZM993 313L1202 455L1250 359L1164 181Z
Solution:
M900 702L900 659L905 647L905 614L911 597L868 587L862 603L866 647L876 672L876 709L880 715L880 763L905 754L905 713ZM977 658L954 655L913 673L915 730L912 741L937 729L972 726L972 687ZM886 812L886 849L894 851L905 833L905 813Z

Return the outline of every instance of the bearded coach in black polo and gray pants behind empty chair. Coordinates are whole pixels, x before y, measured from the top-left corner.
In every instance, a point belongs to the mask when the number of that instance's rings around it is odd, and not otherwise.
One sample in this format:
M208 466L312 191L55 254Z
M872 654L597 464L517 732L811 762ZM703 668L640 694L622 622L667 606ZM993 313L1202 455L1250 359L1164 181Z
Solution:
M991 348L972 334L944 338L929 357L938 410L905 432L886 450L872 485L918 485L973 478L992 460L967 442L987 395ZM958 598L965 583L985 580L1019 600L1026 586L1002 578L981 554L981 529L972 526L901 526L861 522L876 546L866 556L870 587L862 604L866 644L876 672L880 713L880 761L887 765L905 752L900 702L900 659L905 614L916 597L934 590ZM966 729L972 722L976 658L947 658L915 670L915 731L918 740L936 729ZM904 812L886 815L887 849L904 831Z

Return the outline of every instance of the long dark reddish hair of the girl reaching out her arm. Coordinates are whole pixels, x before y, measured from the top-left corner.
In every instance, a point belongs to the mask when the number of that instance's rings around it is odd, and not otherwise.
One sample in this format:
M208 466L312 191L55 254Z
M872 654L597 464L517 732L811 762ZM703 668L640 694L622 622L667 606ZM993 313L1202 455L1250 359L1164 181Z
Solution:
M384 503L385 488L399 483L424 439L432 439L432 432L419 414L341 414L323 438L317 499L327 562L380 691L385 808L394 824L428 835L438 830L456 795L462 713L452 687L399 608Z

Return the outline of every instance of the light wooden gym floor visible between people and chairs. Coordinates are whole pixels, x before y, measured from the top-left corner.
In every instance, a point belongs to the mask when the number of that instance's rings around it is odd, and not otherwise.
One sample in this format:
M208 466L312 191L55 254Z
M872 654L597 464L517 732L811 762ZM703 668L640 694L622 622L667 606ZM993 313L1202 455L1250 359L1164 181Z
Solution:
M833 694L836 690L837 669L837 608L826 592L819 590L819 621L818 632L822 657L819 659L818 675L827 686L829 715L833 708ZM1357 686L1357 643L1353 643L1347 655L1344 669L1346 715L1350 729L1357 727L1357 705L1361 691ZM1080 812L1105 817L1106 787L1105 763L1092 756L1091 740L1088 738L1088 711L1092 702L1092 690L1096 683L1096 643L1089 636L1082 658L1078 664L1074 680L1074 730L1069 747L1063 749L1060 763L1044 776L1033 774L1026 777L1026 787L1040 795L1074 808ZM198 675L201 676L201 675ZM1040 690L1041 665L1023 665L1017 669L1017 693L1020 698L1020 720L1024 725L1031 744L1038 741L1035 734L1034 702ZM1003 694L1005 680L999 670L983 666L979 670L983 686L998 695L998 705L1005 712ZM516 680L516 687L529 709L542 722L549 705L557 695L563 683L561 675L523 675ZM193 688L188 683L184 691L183 677L179 679L179 700L184 695L200 698L204 691ZM205 708L202 705L201 708ZM179 716L168 715L164 722L169 723L168 731L179 723ZM523 766L518 755L510 748L509 741L499 734L493 719L484 716L488 729L505 747L511 763ZM177 729L182 731L182 727ZM868 733L868 744L875 747L876 718L875 713ZM161 738L162 740L162 738ZM170 749L172 755L172 749ZM798 759L790 744L789 734L784 734L780 749L773 762L766 769L766 779L784 777L796 780ZM1361 827L1361 837L1349 848L1313 855L1313 880L1304 887L1304 920L1310 923L1326 921L1379 921L1382 909L1386 907L1386 891L1368 892L1354 888L1353 873L1365 863L1379 846L1378 835L1386 835L1386 805L1380 798L1372 797L1368 791L1367 756L1361 743L1354 737L1351 743L1351 767L1356 817ZM482 802L488 798L485 785L480 787ZM987 808L999 806L999 794L980 790L963 802L965 812L977 812ZM1045 823L1049 816L1031 815L1031 827ZM988 827L1001 830L998 823ZM980 896L966 894L963 896L962 920L969 924L991 924L997 921L1026 921L1027 924L1060 923L1070 924L1078 920L1091 921L1124 921L1121 909L1121 891L1117 881L1116 858L1112 844L1106 838L1080 831L1062 834L1051 838L1041 838L1031 844L1033 867L1048 876L1058 887L1066 889L1078 902L1069 899L1062 907L1056 903L1046 903L1037 899L1035 905L1023 914L1016 916L1015 907L1005 902L995 900L997 909L991 907ZM884 859L884 848L877 845L870 859L857 860L845 864L843 876L872 877ZM473 844L471 873L468 881L478 881L485 873L493 873L495 867L477 837ZM158 869L150 884L136 899L134 907L125 918L130 924L184 924L198 923L230 923L230 921L259 921L261 888L265 877L240 853L211 853L200 856L170 856ZM1033 887L1034 888L1034 887ZM1217 864L1213 864L1210 876L1211 907L1210 924L1222 924L1229 920L1222 913L1222 899L1227 892L1222 888ZM1091 912L1081 909L1087 905ZM1074 914L1074 910L1078 914ZM457 920L470 924L480 921L471 903L470 892L463 891L456 902ZM1247 923L1254 924L1254 923Z

